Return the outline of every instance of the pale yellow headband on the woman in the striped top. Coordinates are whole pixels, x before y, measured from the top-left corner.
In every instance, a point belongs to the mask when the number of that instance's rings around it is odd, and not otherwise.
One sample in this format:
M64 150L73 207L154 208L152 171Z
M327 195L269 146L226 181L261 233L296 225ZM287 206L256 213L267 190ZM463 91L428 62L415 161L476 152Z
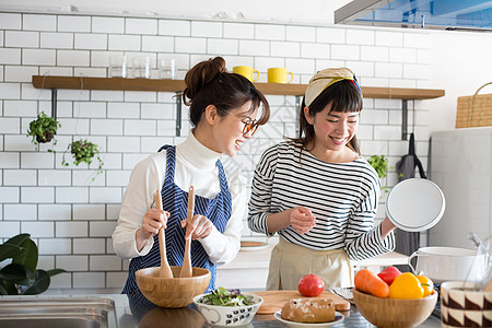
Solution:
M309 84L306 87L306 93L304 97L306 106L309 106L313 103L313 101L316 99L316 97L331 84L341 80L351 80L355 82L354 79L355 78L353 72L348 68L325 69L323 71L317 72L309 80ZM356 86L359 89L359 85Z

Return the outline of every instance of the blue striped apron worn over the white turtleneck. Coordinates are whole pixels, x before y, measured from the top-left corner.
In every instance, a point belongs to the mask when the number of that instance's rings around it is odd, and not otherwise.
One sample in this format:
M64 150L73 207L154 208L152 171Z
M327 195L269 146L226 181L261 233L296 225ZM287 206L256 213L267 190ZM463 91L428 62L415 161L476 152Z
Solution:
M185 233L180 222L186 220L188 192L179 189L174 183L174 174L176 166L176 149L172 145L164 145L159 151L166 150L166 176L164 186L161 189L163 209L169 212L166 235L166 256L169 266L183 266L185 255ZM221 191L214 199L208 199L201 196L195 196L194 214L201 214L212 221L219 232L223 233L231 216L232 202L231 192L229 191L227 180L225 178L224 168L220 160L216 160L219 168L219 179ZM199 177L197 177L199 178ZM124 294L133 294L139 292L134 272L137 270L160 267L161 256L159 250L159 234L154 236L154 245L149 254L132 258L129 266L128 279L122 290ZM191 241L191 266L210 270L211 279L207 292L215 289L216 266L212 263L200 242Z

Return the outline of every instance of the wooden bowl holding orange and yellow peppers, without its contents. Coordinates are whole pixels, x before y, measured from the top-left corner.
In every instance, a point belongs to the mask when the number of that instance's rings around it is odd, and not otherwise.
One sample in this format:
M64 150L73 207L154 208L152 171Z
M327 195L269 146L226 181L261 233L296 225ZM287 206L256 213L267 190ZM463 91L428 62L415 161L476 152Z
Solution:
M423 298L396 300L353 290L353 301L362 316L374 326L405 328L415 327L429 318L437 302L437 293Z

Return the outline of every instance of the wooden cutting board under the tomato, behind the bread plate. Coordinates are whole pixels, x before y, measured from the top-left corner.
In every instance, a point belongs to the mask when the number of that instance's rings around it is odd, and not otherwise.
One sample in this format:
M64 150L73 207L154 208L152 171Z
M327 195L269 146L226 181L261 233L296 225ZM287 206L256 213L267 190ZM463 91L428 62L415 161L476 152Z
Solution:
M273 314L282 308L283 304L291 298L308 298L301 295L297 291L261 291L251 292L251 294L258 295L263 298L263 304L258 308L257 314ZM323 292L316 297L309 298L331 298L335 302L336 311L349 311L350 303L342 297L335 295L330 292Z

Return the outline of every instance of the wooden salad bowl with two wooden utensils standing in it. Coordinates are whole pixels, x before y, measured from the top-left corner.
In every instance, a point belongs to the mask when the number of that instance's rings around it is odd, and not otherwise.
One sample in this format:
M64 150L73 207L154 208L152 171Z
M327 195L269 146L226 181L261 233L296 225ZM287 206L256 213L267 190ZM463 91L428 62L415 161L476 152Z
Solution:
M192 268L192 277L179 278L181 267L172 266L173 277L161 278L161 267L138 270L134 276L142 294L162 307L184 307L194 302L196 295L204 293L210 282L210 271Z

